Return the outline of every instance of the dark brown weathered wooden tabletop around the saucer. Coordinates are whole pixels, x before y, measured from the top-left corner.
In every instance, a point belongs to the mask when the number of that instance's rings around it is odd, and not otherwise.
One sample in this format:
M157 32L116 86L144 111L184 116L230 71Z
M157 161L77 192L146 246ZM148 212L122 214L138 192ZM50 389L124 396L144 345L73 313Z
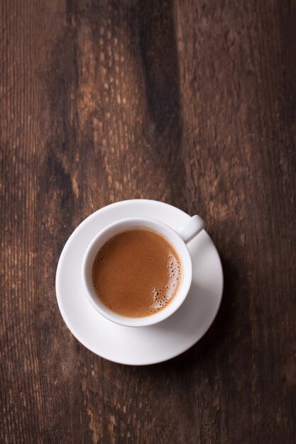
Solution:
M295 443L295 2L4 0L1 443ZM224 299L148 367L75 340L70 233L114 201L199 213Z

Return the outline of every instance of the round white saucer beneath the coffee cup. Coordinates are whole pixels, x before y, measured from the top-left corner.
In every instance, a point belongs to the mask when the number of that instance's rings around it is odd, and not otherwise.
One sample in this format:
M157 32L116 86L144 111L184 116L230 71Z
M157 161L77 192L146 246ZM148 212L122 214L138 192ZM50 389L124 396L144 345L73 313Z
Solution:
M148 365L180 355L202 338L219 310L223 292L221 261L209 235L202 231L188 248L193 279L187 299L170 318L148 327L124 327L108 321L89 303L82 289L81 265L87 245L102 228L124 217L150 217L172 228L190 216L163 202L136 199L105 206L72 233L57 265L57 304L67 327L85 347L108 360Z

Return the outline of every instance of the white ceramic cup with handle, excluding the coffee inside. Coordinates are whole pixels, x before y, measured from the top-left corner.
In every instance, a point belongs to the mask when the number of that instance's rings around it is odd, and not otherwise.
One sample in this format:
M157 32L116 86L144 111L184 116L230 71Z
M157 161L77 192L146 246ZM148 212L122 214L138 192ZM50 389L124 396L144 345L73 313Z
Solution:
M180 287L170 304L157 313L141 318L121 316L114 313L114 311L109 310L108 307L99 300L92 284L92 267L97 252L110 238L113 238L116 234L131 230L132 228L147 228L148 230L153 230L162 235L163 238L167 239L175 248L180 257L182 267ZM100 314L102 314L102 316L109 319L109 321L119 323L122 326L150 326L168 318L168 316L172 315L172 313L174 313L185 301L190 290L192 282L192 259L186 244L200 233L203 228L204 221L197 215L192 216L185 226L178 228L177 231L173 230L168 225L165 225L165 223L156 221L152 218L124 218L120 221L111 223L94 237L89 244L82 261L82 284L89 302Z

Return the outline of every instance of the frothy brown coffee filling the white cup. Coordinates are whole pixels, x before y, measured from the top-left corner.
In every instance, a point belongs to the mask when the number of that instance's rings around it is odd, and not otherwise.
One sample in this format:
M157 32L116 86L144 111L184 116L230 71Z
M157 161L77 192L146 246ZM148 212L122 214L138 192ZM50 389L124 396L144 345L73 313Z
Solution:
M100 301L111 311L133 318L164 309L178 292L180 258L158 233L133 228L108 240L92 267Z

